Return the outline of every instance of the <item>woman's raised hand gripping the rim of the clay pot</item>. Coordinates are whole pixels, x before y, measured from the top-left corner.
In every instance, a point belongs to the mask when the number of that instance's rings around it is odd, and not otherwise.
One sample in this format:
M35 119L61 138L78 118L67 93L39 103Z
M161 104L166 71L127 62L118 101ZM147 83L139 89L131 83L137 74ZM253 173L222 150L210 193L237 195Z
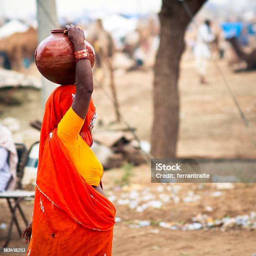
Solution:
M69 41L73 44L75 51L80 51L84 49L84 31L80 27L75 27L73 24L66 25L66 30Z

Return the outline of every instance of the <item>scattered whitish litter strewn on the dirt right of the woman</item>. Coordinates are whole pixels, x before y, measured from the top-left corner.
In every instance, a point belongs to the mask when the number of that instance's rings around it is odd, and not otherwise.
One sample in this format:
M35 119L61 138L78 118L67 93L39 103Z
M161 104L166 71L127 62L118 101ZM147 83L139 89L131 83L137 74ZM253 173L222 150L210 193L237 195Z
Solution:
M228 184L228 183L227 183ZM218 189L231 189L230 184L225 184L223 187L218 187ZM233 184L231 184L233 185ZM225 187L225 188L224 188ZM194 191L189 190L187 196L180 197L179 193L181 190L179 185L158 185L154 188L154 192L151 192L149 187L143 188L139 184L125 185L121 187L121 191L125 193L120 193L119 199L117 200L115 196L110 194L110 200L116 201L117 205L127 205L130 210L135 210L136 212L143 212L152 208L161 209L167 202L173 200L175 204L178 204L181 200L185 203L196 202L202 198L202 195L195 194ZM168 193L166 192L168 191ZM207 192L205 195L210 195L212 197L220 197L223 195L222 191ZM210 205L205 206L206 212L213 212L214 207ZM256 229L256 211L251 211L249 214L238 215L236 217L225 216L224 218L214 219L207 214L198 213L196 216L192 217L192 222L164 222L160 221L157 225L161 228L167 228L170 230L209 230L210 228L221 227L221 231L225 231L230 228L250 228ZM116 222L120 222L121 218L117 217ZM148 226L156 225L156 222L152 220L134 220L128 223L130 228L144 228ZM159 229L152 229L150 233L159 233Z

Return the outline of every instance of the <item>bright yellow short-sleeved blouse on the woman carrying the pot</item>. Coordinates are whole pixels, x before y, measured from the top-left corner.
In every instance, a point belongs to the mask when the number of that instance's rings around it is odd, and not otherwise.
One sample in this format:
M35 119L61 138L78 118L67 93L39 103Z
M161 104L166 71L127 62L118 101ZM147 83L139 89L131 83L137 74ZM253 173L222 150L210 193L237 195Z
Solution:
M103 175L103 166L79 132L84 123L72 107L58 124L57 134L73 159L74 165L86 182L98 186Z

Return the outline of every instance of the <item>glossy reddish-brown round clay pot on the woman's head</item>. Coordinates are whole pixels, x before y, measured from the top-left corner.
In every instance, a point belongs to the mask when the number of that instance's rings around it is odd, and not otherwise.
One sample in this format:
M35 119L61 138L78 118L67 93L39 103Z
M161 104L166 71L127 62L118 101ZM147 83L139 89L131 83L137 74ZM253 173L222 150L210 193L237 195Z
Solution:
M95 51L88 41L84 41L89 51L90 64L95 62ZM63 30L51 30L51 36L36 48L36 67L39 72L56 84L75 83L74 47Z

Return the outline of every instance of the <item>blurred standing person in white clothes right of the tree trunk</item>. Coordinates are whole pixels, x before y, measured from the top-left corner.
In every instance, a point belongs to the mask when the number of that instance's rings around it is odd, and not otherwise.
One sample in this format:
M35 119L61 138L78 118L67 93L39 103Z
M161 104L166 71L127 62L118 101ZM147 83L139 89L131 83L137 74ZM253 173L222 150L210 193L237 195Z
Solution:
M201 84L207 84L207 65L212 54L210 43L213 43L214 41L215 36L211 30L211 22L210 20L205 20L205 22L198 28L194 48L195 66L197 68Z

